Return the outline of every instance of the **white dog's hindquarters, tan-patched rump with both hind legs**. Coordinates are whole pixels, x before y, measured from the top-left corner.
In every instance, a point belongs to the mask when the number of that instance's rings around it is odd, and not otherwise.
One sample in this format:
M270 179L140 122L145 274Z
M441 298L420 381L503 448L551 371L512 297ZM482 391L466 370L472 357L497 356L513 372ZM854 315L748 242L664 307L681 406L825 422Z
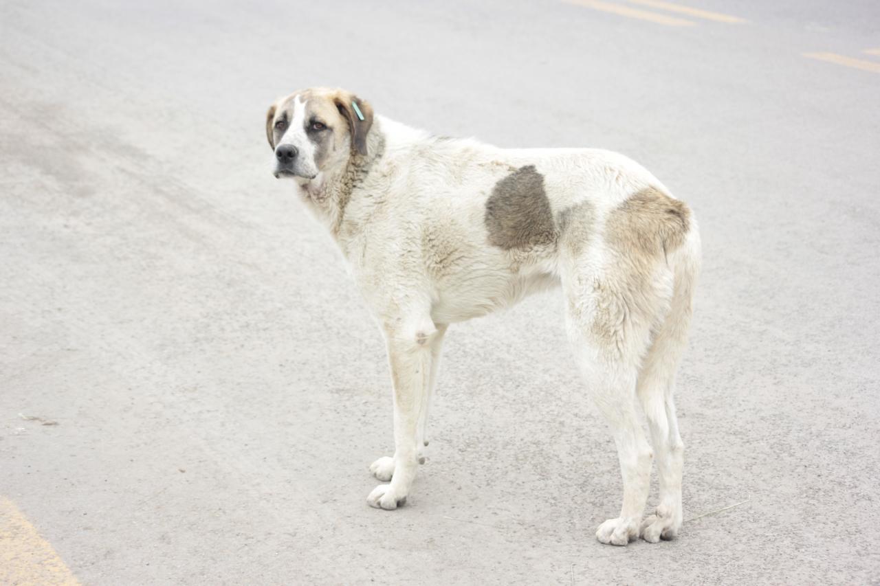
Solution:
M589 208L567 219L560 269L568 333L590 392L611 423L623 474L620 517L601 524L596 537L624 545L641 529L649 541L671 538L681 525L682 468L671 389L700 265L696 220L683 202L656 187L630 195L603 224L593 221ZM644 525L653 452L635 418L636 395L648 416L662 483L661 506Z

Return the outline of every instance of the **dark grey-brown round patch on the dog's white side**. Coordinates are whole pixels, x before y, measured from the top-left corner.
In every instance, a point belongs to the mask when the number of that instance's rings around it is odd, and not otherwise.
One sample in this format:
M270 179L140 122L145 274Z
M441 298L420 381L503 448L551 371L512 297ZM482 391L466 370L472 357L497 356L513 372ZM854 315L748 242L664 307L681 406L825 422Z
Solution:
M504 250L556 241L559 234L544 191L544 176L535 171L535 165L520 167L495 184L486 201L484 222L489 242Z

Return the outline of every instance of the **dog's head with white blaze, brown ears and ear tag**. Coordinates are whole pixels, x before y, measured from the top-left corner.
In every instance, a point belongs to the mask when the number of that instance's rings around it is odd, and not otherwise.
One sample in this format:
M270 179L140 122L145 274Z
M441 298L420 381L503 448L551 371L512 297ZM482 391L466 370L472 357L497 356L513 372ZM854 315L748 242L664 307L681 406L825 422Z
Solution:
M275 177L311 180L367 154L373 109L345 90L311 88L269 107L266 136L275 150Z

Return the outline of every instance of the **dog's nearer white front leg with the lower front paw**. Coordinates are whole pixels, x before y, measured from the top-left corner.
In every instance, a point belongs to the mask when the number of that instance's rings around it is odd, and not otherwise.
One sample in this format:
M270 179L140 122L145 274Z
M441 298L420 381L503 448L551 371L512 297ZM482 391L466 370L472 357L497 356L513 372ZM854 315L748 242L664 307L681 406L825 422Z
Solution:
M429 326L427 324L430 324ZM367 497L371 507L397 509L407 500L422 447L420 419L428 408L433 323L386 333L394 395L393 476Z

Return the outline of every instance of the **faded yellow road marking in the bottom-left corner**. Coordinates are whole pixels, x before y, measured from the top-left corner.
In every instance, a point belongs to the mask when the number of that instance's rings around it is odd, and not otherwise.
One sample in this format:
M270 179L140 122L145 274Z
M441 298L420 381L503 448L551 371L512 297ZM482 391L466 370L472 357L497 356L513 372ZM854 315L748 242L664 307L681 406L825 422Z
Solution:
M52 546L21 511L0 496L0 584L78 586Z

